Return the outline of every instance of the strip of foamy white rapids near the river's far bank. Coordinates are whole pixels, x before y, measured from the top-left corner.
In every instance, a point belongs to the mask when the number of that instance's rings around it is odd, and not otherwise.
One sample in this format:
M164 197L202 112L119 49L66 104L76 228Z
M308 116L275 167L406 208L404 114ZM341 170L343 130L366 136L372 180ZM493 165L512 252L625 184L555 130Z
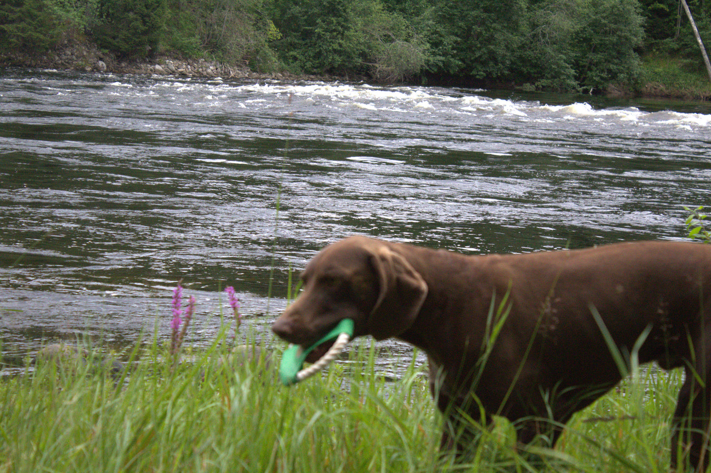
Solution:
M155 99L161 108L173 102L181 107L213 107L225 112L235 108L260 111L277 111L291 105L292 113L301 105L337 109L348 112L361 109L366 112L389 112L427 116L427 119L512 119L538 123L593 121L604 126L668 126L669 130L683 127L687 131L702 131L711 127L711 113L683 113L671 111L645 112L637 107L594 107L587 102L565 105L542 104L537 101L507 100L477 94L478 91L437 89L425 87L373 87L338 83L287 84L261 82L239 85L222 80L210 82L158 80L149 87L136 87L133 83L114 80L109 82L109 95L130 99ZM483 92L483 91L480 91ZM65 93L57 91L58 94ZM259 97L259 98L255 98ZM289 104L289 97L292 103ZM168 101L168 102L166 102ZM274 107L277 107L276 109ZM464 123L466 124L466 122Z

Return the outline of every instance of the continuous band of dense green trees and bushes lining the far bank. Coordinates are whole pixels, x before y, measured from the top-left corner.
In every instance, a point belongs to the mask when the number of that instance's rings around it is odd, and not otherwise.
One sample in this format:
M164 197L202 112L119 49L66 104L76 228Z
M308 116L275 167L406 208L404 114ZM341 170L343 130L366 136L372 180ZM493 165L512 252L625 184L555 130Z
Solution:
M689 4L702 37L711 43L711 2ZM260 71L370 75L383 82L427 74L536 89L602 89L634 82L644 50L702 67L676 0L6 0L0 5L0 50L48 50L70 33L85 34L118 57L170 52L242 62Z

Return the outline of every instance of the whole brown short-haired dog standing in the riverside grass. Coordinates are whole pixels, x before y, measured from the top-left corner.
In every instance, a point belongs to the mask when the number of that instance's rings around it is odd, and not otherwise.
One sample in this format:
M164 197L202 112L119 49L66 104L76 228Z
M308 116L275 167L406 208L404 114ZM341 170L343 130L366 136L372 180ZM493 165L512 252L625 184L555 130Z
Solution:
M317 254L301 279L303 292L272 330L308 346L351 318L356 336L424 350L447 418L444 449L471 442L463 418L490 423L491 415L508 418L523 444L543 435L552 445L636 354L640 363L685 369L672 467L703 471L709 463L711 245L464 256L351 237Z

